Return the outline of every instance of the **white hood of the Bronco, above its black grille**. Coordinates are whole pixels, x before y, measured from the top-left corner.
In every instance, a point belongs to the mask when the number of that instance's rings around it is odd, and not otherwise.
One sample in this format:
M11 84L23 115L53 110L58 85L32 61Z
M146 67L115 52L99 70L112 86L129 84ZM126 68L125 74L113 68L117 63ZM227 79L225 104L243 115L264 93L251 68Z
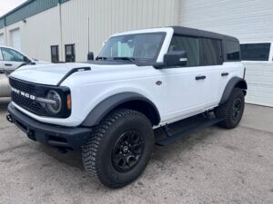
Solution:
M23 66L11 73L11 77L30 83L56 85L74 68L90 67L86 63L51 63Z

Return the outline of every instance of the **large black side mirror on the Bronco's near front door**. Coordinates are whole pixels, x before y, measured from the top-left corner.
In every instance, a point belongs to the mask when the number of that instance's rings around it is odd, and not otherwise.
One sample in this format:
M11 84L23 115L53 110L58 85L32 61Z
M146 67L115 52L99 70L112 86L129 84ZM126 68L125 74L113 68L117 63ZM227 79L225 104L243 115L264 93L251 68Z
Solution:
M186 66L187 52L186 51L170 51L164 55L165 66Z

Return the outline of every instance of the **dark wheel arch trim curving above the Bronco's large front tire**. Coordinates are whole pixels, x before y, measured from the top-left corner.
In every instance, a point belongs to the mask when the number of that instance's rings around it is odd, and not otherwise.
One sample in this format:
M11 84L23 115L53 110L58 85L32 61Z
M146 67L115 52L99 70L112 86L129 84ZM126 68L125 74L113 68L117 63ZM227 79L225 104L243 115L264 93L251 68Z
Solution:
M157 106L147 99L147 97L136 92L122 92L116 93L98 103L96 107L88 113L85 121L83 121L81 125L86 127L96 126L109 112L117 108L127 108L142 112L153 125L159 124L161 120Z

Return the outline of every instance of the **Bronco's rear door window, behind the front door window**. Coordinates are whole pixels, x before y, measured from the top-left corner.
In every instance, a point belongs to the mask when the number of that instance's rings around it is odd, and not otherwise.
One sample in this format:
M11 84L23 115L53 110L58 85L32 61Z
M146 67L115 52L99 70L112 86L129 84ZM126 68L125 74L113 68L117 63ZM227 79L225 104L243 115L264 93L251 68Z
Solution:
M222 45L220 40L203 38L203 65L222 64Z

